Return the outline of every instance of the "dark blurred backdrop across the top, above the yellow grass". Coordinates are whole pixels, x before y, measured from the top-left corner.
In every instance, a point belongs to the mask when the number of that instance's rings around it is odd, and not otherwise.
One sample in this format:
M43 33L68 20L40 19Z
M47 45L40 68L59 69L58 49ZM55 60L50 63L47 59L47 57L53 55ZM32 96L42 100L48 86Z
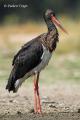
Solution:
M4 5L28 5L26 8L8 8ZM67 14L70 17L80 17L80 0L0 0L0 22L10 22L15 18L15 23L23 23L28 20L40 20L43 12L52 8L57 14Z

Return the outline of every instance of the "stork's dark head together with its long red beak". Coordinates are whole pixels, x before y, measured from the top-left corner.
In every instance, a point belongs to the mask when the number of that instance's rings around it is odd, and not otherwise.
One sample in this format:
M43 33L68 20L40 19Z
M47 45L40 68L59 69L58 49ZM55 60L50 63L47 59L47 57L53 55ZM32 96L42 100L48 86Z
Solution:
M51 9L46 10L46 12L44 13L44 19L45 21L51 21L53 24L57 25L63 32L67 33L67 31L62 27L59 20L56 18L53 10Z

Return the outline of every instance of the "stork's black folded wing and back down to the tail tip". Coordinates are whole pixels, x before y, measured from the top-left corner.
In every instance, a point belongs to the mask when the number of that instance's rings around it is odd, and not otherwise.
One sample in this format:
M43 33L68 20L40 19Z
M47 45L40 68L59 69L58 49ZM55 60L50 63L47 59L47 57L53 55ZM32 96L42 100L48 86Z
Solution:
M16 80L24 77L26 73L32 70L41 62L43 47L39 40L34 39L25 44L22 49L14 56L13 69L10 74L6 89L15 92Z

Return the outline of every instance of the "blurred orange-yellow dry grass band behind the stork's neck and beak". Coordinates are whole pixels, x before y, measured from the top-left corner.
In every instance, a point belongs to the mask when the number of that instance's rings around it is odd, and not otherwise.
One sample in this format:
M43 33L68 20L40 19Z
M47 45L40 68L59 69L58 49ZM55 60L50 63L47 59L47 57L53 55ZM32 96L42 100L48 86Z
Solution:
M60 29L60 41L57 53L70 53L80 51L80 21L73 21L63 16L60 19L69 35L62 33ZM0 27L0 48L4 53L10 53L20 48L23 43L47 31L43 23L28 22L21 25L1 26Z

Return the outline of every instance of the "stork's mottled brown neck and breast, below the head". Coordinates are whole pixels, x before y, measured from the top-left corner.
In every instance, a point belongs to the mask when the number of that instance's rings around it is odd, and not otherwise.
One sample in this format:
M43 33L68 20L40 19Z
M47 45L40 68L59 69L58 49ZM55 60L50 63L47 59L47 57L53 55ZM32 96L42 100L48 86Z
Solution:
M58 42L58 31L56 26L51 22L46 22L48 26L48 32L44 39L42 39L42 43L52 52L55 50L57 42Z

